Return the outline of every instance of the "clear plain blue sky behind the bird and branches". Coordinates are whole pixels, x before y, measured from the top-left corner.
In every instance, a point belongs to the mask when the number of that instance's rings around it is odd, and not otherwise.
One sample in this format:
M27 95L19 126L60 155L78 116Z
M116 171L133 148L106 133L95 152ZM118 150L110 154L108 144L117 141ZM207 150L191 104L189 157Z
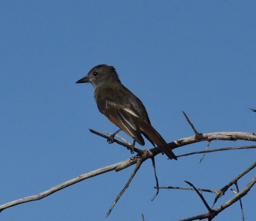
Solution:
M199 132L255 132L254 1L1 1L0 204L131 157L89 132L117 128L98 112L91 85L75 82L95 65L114 65L151 123L171 142ZM121 134L121 133L120 133ZM128 140L130 138L126 137ZM131 139L130 139L131 140ZM210 148L252 145L214 141ZM176 149L204 150L207 143ZM137 146L140 147L140 146ZM143 148L151 148L149 142ZM156 157L160 186L220 189L255 162L254 150L167 161ZM155 194L144 162L111 215L109 207L134 167L77 183L45 199L4 210L1 220L178 220L207 212L192 191ZM239 181L243 189L255 171ZM215 195L204 194L211 205ZM256 190L243 198L256 216ZM233 197L228 190L217 205ZM218 220L241 220L239 203Z

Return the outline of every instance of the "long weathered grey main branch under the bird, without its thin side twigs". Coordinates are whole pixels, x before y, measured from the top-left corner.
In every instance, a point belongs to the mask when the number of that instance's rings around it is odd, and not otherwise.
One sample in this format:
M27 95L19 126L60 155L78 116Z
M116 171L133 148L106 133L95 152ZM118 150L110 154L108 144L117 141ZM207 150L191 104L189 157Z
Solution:
M99 136L102 136L102 137L108 139L108 136L102 135L101 133L98 133L95 130L90 129L90 131L94 134L97 134ZM256 134L254 134L254 133L243 133L243 132L220 132L220 133L199 134L197 136L187 137L187 138L183 138L183 139L171 142L171 143L168 144L168 147L171 148L171 149L175 149L175 148L180 147L180 146L189 145L189 144L196 143L196 142L203 141L203 140L208 140L208 141L210 141L210 140L249 140L249 141L256 141ZM116 143L122 145L122 146L130 147L129 145L127 145L123 142L120 142L119 140L114 140L114 141ZM255 148L255 146L243 147L243 148ZM235 148L233 148L233 149L235 149ZM242 148L240 148L240 149L242 149ZM152 157L156 156L157 154L161 153L161 151L157 147L152 148L150 150L144 150L144 151L136 148L136 151L139 153L139 157L142 157L143 161L147 160L148 158L152 158ZM213 151L213 150L210 150L210 151ZM210 151L208 151L208 152L210 152ZM216 151L219 151L219 150L216 150ZM202 153L202 152L198 152L198 153ZM85 173L83 175L80 175L79 177L76 177L76 178L68 180L64 183L61 183L61 184L59 184L59 185L57 185L57 186L55 186L51 189L48 189L48 190L46 190L42 193L32 195L32 196L28 196L28 197L24 197L24 198L17 199L17 200L11 201L9 203L0 205L0 211L5 210L6 208L9 208L11 206L19 205L19 204L34 201L34 200L43 199L46 196L49 196L49 195L51 195L51 194L53 194L53 193L55 193L55 192L57 192L61 189L64 189L64 188L66 188L70 185L73 185L74 183L78 183L78 182L80 182L82 180L85 180L87 178L91 178L91 177L94 177L94 176L97 176L99 174L109 172L109 171L112 171L112 170L115 170L115 171L123 170L126 167L130 167L131 165L137 163L137 159L138 159L137 157L132 157L132 158L127 159L123 162L119 162L119 163L116 163L116 164L113 164L113 165L110 165L110 166L107 166L107 167L102 167L102 168L97 169L95 171ZM223 189L223 193L225 192L224 190L225 189ZM219 197L221 195L222 194L220 194Z

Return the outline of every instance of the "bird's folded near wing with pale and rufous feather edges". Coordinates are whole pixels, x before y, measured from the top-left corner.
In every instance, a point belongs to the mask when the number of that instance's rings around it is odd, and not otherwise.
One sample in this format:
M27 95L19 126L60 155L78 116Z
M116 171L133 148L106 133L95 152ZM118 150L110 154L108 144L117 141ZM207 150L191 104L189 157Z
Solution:
M99 111L140 145L145 142L138 124L139 113L113 88L101 88L95 96Z

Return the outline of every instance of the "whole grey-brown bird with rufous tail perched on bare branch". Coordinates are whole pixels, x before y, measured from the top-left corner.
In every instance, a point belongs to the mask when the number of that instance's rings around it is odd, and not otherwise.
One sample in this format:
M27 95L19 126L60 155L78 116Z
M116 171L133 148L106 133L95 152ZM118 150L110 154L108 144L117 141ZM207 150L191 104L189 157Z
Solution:
M116 133L123 130L134 139L132 148L135 141L142 146L145 145L142 138L144 135L153 146L156 144L170 159L177 160L163 137L152 127L141 100L122 85L113 66L97 65L76 83L87 82L95 89L94 98L100 113L120 128ZM114 136L110 136L109 141L113 142Z

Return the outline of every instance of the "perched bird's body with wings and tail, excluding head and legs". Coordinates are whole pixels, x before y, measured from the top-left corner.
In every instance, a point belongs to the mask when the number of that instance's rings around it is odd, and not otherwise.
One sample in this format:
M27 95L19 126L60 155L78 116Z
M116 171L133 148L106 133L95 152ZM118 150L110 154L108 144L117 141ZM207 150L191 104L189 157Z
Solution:
M124 86L101 87L95 91L95 100L99 111L111 122L131 136L140 145L145 142L141 133L169 158L177 159L167 148L167 143L150 124L146 108L139 98Z

